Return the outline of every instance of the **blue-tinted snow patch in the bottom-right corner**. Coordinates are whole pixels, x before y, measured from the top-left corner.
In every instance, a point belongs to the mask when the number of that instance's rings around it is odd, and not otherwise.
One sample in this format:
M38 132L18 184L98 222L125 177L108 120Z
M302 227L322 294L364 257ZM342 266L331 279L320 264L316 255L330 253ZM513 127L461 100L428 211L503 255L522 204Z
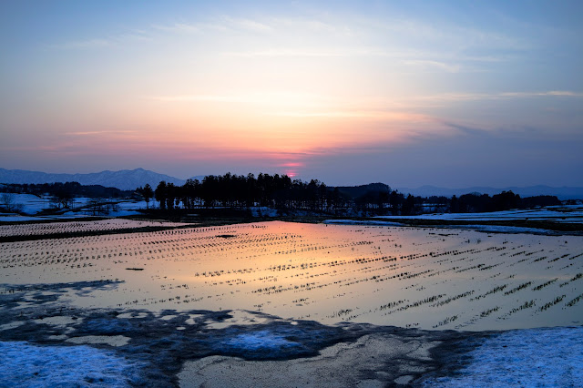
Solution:
M472 361L459 374L425 380L424 386L578 386L583 382L583 327L503 332L469 355Z

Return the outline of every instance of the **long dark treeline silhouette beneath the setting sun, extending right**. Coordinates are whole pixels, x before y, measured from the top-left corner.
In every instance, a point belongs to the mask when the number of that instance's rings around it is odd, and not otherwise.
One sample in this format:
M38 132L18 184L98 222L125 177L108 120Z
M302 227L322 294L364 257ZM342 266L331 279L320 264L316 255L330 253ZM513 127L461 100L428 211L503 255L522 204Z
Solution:
M465 194L453 197L405 196L384 183L355 187L328 187L317 179L310 182L291 179L287 175L253 174L206 176L202 181L189 179L176 186L161 181L155 190L138 188L149 201L155 198L160 209L267 207L279 210L310 210L330 214L361 212L363 215L414 215L424 212L483 212L560 205L554 196L521 199L512 191L490 197L487 194Z

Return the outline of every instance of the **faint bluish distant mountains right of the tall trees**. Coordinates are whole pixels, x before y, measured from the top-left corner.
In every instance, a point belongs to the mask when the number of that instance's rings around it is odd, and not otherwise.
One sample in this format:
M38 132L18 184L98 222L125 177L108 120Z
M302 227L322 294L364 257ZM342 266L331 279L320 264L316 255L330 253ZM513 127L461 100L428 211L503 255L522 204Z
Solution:
M398 191L404 194L412 194L414 196L420 197L430 197L430 196L457 196L469 193L480 193L480 194L488 194L494 195L498 194L502 191L512 191L515 194L518 194L520 197L533 197L537 195L553 195L557 196L558 199L583 199L583 188L578 187L562 187L562 188L553 188L550 186L538 185L538 186L528 186L526 188L518 188L516 186L508 187L508 188L490 188L490 187L472 187L472 188L465 188L465 189L447 189L447 188L438 188L435 186L422 186L417 189L408 189L408 188L397 188Z

